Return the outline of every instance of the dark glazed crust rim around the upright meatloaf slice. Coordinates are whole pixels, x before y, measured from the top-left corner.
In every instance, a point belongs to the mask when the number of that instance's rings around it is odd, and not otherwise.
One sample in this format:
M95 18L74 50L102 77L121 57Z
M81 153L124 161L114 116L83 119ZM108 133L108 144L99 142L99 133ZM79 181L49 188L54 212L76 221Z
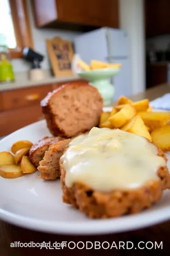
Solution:
M94 91L94 94L96 93L98 95L98 98L101 101L101 108L99 108L99 117L98 117L97 121L95 123L93 123L92 127L88 128L88 129L84 128L84 129L80 130L77 133L76 133L76 131L74 133L74 130L73 130L73 133L71 135L69 135L64 128L61 128L61 127L59 127L59 125L56 124L56 117L55 117L54 113L51 110L51 104L50 104L51 99L56 94L60 93L63 90L66 90L69 87L72 87L73 89L74 88L80 88L80 87L86 87L87 89L91 88ZM76 136L80 133L83 133L87 130L90 130L91 128L93 128L93 126L97 126L98 123L99 123L100 114L102 112L102 105L103 105L102 96L100 95L100 93L98 92L98 90L96 88L89 85L87 82L82 82L82 83L72 82L72 83L64 84L64 85L60 86L58 89L56 89L52 92L49 92L47 94L47 96L41 101L42 112L43 112L44 117L46 119L47 127L51 131L51 134L53 136L68 137L68 138L69 137L74 137L74 136ZM62 111L62 109L60 111ZM91 110L91 111L93 111L93 110ZM72 115L72 113L70 112L69 115ZM79 120L79 122L80 122L80 120ZM79 125L79 124L77 124L77 125Z

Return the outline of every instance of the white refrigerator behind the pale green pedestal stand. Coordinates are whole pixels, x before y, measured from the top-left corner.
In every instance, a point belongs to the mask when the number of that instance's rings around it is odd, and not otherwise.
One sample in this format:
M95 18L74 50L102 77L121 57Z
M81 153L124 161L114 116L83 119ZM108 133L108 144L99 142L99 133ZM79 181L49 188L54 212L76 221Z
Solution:
M102 27L74 39L74 50L81 59L90 64L92 59L108 63L120 63L120 72L111 79L115 87L113 100L120 95L129 96L131 89L130 45L126 32Z

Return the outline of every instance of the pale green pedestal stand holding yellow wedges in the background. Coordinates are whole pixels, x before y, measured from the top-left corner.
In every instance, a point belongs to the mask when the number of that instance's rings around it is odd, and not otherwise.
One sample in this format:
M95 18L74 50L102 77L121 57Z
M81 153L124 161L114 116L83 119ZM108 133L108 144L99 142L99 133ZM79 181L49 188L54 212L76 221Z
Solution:
M77 74L98 89L102 95L104 106L107 106L111 103L114 96L114 86L110 83L109 78L119 73L119 71L119 68L103 68L83 71Z

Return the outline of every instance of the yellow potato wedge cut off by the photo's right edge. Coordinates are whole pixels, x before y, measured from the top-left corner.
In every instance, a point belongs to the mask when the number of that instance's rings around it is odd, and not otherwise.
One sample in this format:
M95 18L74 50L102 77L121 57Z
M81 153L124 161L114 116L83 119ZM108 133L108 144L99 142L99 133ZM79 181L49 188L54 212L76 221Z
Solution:
M155 128L151 132L153 142L159 146L164 152L170 151L170 125Z

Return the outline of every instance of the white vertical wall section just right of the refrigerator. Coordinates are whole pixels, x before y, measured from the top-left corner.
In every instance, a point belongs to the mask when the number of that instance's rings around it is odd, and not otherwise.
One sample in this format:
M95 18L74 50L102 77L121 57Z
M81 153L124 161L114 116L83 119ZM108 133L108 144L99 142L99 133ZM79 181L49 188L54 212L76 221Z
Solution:
M144 0L119 0L120 27L130 39L132 93L145 90Z

